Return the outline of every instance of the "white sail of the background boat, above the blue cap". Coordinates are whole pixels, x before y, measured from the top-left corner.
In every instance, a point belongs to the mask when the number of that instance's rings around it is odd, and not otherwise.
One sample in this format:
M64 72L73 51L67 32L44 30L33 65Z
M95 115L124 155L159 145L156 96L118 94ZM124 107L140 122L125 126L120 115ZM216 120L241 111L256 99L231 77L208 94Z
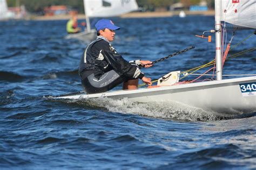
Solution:
M138 10L136 0L84 0L87 17L114 17Z

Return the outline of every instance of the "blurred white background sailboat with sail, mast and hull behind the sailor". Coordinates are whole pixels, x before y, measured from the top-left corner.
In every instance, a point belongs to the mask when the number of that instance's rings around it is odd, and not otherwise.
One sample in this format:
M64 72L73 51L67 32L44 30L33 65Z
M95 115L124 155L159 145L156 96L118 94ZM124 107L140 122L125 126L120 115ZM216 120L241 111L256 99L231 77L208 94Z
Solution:
M90 18L117 17L124 13L138 10L136 0L84 0L84 12L86 17L86 30L76 34L69 34L66 38L92 39L96 38L96 30L91 29Z

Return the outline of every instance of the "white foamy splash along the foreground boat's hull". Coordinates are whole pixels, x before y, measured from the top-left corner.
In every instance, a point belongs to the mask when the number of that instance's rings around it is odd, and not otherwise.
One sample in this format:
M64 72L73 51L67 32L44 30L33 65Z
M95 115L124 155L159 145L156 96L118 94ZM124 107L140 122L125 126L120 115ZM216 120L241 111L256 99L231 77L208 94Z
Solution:
M76 103L83 105L83 107L106 109L110 112L179 121L216 121L223 119L218 112L206 111L201 108L170 101L138 103L132 102L128 98L113 100L111 98L99 97L93 99L65 100L65 102Z

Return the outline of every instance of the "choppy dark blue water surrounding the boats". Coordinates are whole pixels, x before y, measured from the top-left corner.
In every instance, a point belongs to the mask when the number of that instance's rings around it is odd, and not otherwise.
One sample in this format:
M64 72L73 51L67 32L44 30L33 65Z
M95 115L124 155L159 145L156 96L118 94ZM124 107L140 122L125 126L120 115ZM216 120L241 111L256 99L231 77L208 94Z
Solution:
M156 60L196 46L143 69L152 79L214 58L214 36L211 43L194 36L214 29L213 17L113 18L113 22L122 29L112 45L127 60ZM219 117L178 103L48 97L82 91L78 64L89 41L65 39L65 24L65 20L0 22L1 169L256 168L256 112L235 113L237 117L219 113L224 115ZM237 32L232 43L252 32ZM252 47L255 35L231 54ZM224 74L256 74L255 61L255 51L229 60Z

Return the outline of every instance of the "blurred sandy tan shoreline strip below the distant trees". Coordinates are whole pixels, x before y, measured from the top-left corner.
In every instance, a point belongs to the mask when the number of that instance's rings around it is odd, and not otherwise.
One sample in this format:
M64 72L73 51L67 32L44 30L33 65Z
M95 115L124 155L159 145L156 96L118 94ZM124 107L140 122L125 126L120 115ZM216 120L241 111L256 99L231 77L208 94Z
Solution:
M130 12L119 16L120 18L159 18L159 17L173 17L179 16L180 11L165 11L165 12ZM214 16L214 10L209 11L184 11L186 16L201 15ZM85 19L85 15L79 14L78 19ZM58 16L31 16L31 20L69 20L70 15Z

